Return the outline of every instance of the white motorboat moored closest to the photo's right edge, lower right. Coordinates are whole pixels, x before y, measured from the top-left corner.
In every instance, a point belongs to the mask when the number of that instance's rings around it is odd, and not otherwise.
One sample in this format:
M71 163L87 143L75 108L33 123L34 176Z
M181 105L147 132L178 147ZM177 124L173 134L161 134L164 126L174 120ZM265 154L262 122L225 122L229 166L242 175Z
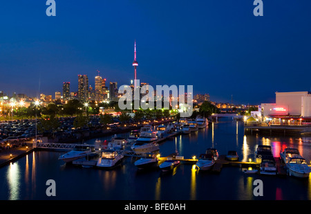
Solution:
M288 174L294 177L309 177L311 168L308 166L307 161L302 157L291 158L286 164Z

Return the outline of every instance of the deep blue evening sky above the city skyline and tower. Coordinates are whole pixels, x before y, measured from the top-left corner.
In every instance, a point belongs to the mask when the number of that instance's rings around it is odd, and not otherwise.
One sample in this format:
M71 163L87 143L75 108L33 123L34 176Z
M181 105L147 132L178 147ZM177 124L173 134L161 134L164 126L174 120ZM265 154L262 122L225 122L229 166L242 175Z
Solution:
M263 0L1 1L0 91L55 95L77 75L94 86L96 70L110 81L138 78L192 84L211 100L260 104L275 91L311 90L311 1Z

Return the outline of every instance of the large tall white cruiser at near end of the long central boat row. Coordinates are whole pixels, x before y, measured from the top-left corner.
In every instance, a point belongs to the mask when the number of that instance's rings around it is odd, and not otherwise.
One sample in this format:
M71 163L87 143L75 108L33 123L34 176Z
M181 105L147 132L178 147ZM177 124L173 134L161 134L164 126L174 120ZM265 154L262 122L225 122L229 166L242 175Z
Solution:
M157 140L156 132L141 132L138 139L131 146L131 149L137 154L154 152L159 150L159 144L156 143Z

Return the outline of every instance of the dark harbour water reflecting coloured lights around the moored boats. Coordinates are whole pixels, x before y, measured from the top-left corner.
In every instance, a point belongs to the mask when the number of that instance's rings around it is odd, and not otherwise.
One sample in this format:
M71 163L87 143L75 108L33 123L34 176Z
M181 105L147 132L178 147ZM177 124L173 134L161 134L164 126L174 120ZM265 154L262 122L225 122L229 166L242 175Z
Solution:
M223 120L223 119L222 119ZM122 134L120 136L129 136ZM92 139L84 143L111 139ZM311 161L311 138L289 136L245 136L242 121L218 121L189 135L160 143L161 156L176 151L191 158L216 148L220 154L236 150L241 161L254 160L257 145L271 145L274 157L286 147L298 148ZM173 172L138 170L137 157L126 157L113 170L82 168L59 160L63 152L36 151L0 168L0 199L59 200L310 200L311 177L247 175L243 168L224 166L219 173L202 172L183 163ZM46 195L46 181L55 180L56 196ZM254 196L254 181L263 181L263 196Z

